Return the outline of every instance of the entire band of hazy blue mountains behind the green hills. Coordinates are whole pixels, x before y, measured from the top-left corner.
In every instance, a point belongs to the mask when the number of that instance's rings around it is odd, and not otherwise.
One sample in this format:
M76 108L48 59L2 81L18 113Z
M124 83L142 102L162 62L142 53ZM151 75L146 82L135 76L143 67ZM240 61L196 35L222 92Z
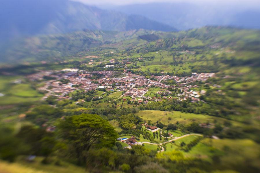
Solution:
M255 5L260 4L259 1L206 3L200 0L193 3L190 0L144 0L142 4L135 4L137 2L2 0L0 38L4 40L38 34L68 33L82 29L128 31L143 28L177 31L207 25L260 28L260 6Z

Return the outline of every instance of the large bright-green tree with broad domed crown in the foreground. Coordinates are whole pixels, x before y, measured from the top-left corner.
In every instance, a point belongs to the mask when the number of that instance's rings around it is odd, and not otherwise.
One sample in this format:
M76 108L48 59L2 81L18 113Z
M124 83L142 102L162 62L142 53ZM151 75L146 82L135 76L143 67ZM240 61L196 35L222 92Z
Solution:
M98 115L81 114L66 117L59 124L61 137L75 149L78 163L86 163L90 147L112 147L117 132Z

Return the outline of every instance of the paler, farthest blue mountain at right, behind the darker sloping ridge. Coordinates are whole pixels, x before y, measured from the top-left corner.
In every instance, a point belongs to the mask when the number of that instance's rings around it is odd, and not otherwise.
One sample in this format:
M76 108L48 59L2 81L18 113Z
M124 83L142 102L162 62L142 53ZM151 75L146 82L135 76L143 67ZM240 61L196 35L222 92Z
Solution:
M146 3L114 7L102 6L129 15L142 15L174 26L178 30L203 26L235 26L260 29L260 7L212 5L203 3Z

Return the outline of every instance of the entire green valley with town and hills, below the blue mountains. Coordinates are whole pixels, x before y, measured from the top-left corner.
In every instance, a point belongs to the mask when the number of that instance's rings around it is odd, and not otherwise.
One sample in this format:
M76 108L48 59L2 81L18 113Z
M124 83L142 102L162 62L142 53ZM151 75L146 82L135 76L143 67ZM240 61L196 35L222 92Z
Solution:
M14 163L0 166L258 172L259 36L207 26L20 39L1 59L0 157Z

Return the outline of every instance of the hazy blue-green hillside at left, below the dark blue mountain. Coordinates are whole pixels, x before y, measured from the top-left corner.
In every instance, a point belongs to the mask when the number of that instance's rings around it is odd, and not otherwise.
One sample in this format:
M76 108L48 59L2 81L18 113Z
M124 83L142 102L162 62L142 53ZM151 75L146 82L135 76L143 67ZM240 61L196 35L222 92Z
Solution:
M84 30L66 34L41 35L10 41L0 49L0 62L60 61L97 50L101 45L120 43L140 35L162 33L159 31L92 31ZM84 54L83 54L84 55Z

